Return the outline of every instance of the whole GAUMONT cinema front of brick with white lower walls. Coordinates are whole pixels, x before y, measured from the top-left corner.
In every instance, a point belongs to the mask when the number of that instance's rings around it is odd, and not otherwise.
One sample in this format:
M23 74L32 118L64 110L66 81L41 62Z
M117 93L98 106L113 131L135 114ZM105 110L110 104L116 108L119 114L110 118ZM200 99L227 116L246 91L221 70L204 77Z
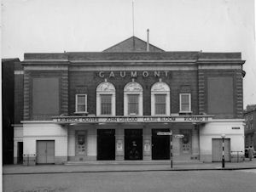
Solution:
M25 54L15 71L15 163L168 160L171 136L160 132L172 132L174 161L221 161L222 134L225 160L235 161L244 62L137 37L97 53Z

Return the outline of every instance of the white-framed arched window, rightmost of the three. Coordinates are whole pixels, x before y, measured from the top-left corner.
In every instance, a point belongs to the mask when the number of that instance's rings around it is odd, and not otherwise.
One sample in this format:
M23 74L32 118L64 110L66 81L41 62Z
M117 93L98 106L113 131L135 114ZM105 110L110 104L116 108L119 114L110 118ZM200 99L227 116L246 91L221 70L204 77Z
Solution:
M151 88L151 115L170 115L170 88L166 82L155 82Z

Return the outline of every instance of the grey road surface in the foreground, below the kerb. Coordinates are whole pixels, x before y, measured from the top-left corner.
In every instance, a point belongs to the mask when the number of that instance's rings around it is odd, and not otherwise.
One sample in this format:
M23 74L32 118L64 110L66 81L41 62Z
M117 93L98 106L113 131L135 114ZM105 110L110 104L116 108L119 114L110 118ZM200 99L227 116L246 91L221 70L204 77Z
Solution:
M6 192L256 191L256 169L3 175Z

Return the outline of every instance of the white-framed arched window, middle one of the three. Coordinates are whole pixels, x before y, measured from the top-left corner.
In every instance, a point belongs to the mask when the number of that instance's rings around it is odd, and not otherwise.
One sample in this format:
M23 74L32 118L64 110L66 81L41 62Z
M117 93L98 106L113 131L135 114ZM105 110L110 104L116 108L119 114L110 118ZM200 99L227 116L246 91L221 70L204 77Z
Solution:
M143 116L143 87L134 79L124 88L124 116Z

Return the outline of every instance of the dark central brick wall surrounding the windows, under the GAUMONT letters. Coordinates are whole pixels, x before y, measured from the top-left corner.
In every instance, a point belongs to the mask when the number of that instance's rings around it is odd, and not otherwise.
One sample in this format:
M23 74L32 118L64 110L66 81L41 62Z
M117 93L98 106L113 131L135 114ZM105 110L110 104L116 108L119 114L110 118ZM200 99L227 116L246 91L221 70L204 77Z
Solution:
M119 71L115 71L118 74ZM152 76L154 71L149 71L148 77L143 77L142 71L137 71L135 82L143 87L143 115L151 115L151 87L159 81L158 77ZM75 111L75 94L88 94L88 112L96 114L96 87L104 78L97 76L98 71L70 71L69 72L69 115ZM107 72L106 72L107 73ZM126 71L127 74L131 73ZM171 75L171 74L170 74ZM113 83L116 88L116 115L124 114L124 88L126 83L131 82L131 76L115 76L108 78L108 82ZM171 76L162 77L162 82L166 82L171 88L171 113L179 111L179 93L184 92L183 87L189 88L191 93L191 109L194 115L198 114L198 89L197 71L172 71ZM186 90L185 90L186 91ZM187 91L188 92L188 91Z

